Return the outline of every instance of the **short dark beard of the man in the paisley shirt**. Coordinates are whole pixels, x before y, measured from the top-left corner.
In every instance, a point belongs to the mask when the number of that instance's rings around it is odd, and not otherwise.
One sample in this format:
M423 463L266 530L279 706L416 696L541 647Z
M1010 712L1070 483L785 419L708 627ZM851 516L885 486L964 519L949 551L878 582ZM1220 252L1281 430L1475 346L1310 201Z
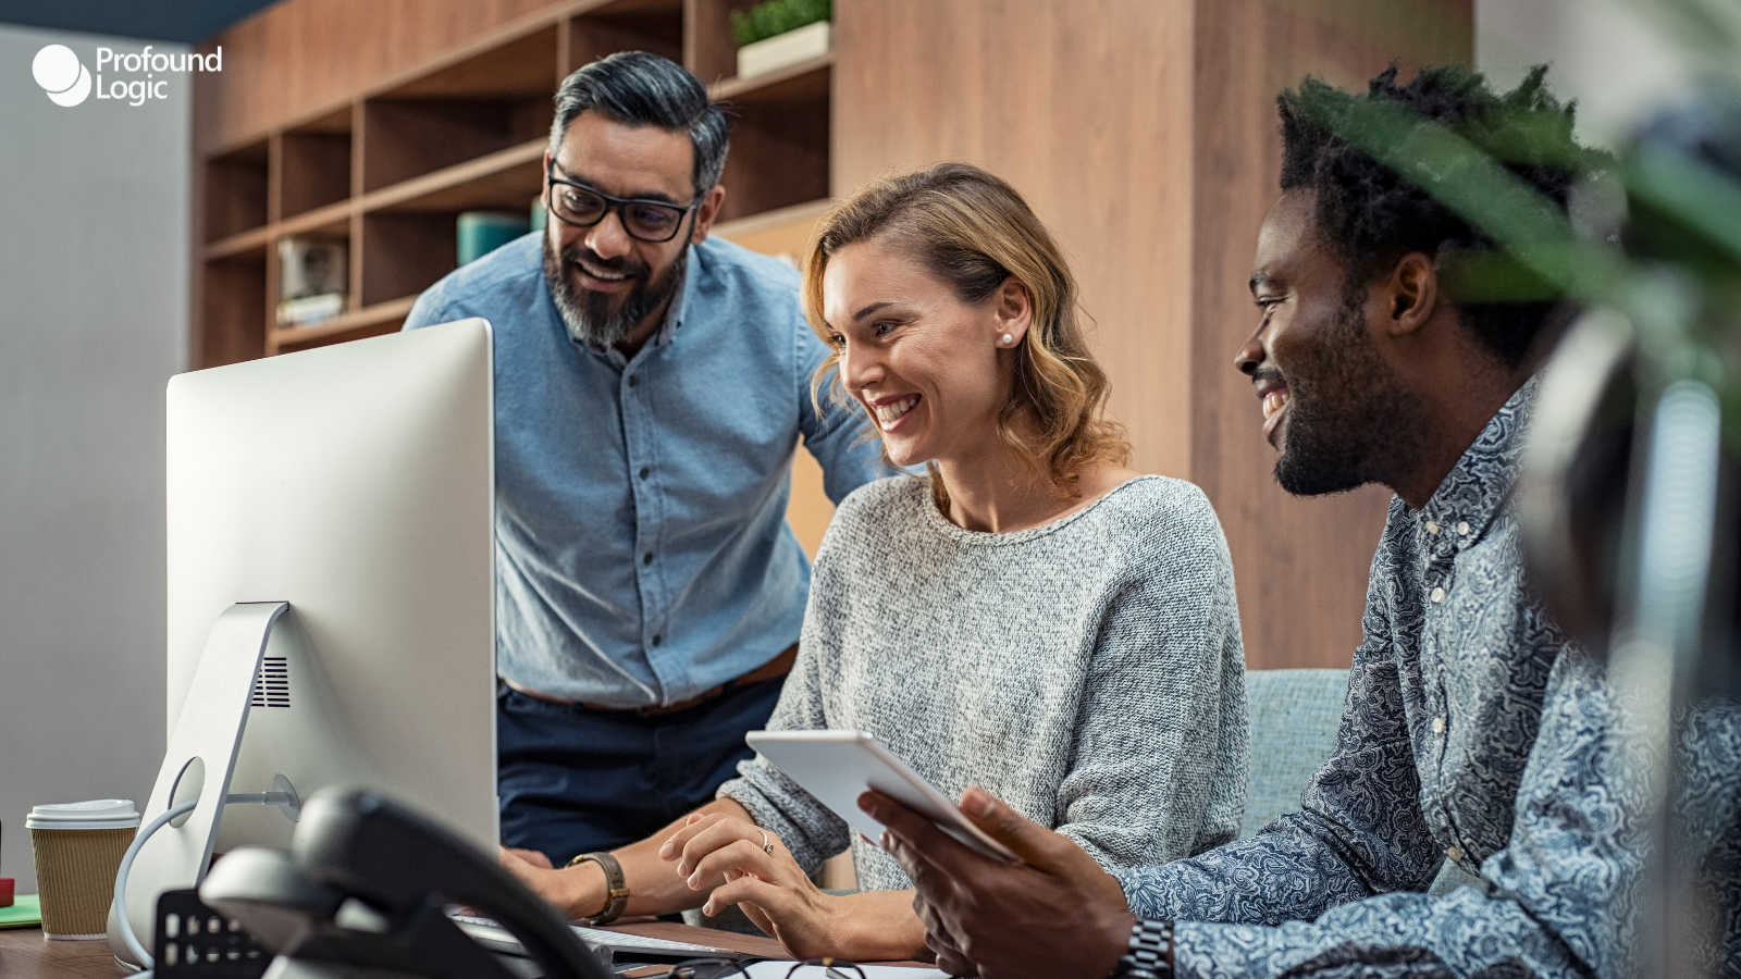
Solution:
M1391 483L1426 444L1419 406L1372 345L1363 303L1365 289L1351 287L1334 334L1287 376L1276 483L1295 496Z

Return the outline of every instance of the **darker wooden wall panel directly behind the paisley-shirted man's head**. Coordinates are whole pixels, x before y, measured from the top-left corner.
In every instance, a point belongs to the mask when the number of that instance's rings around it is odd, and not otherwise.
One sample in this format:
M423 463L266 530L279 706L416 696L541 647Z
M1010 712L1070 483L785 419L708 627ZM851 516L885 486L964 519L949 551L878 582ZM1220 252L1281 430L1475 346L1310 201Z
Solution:
M1318 75L1363 87L1393 59L1468 63L1468 0L1198 0L1191 479L1233 550L1254 667L1346 667L1360 645L1367 571L1389 491L1290 496L1233 357L1257 326L1247 279L1280 190L1276 92Z

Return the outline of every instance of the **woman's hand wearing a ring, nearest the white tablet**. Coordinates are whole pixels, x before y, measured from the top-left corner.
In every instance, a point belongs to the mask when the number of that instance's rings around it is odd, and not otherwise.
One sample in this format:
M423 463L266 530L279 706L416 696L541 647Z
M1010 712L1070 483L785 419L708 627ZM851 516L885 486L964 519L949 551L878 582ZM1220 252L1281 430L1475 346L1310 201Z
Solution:
M771 854L763 850L763 840L773 845ZM658 855L674 861L677 876L693 890L724 876L726 883L702 906L703 915L736 904L792 958L843 956L839 899L822 894L773 833L729 815L695 814Z

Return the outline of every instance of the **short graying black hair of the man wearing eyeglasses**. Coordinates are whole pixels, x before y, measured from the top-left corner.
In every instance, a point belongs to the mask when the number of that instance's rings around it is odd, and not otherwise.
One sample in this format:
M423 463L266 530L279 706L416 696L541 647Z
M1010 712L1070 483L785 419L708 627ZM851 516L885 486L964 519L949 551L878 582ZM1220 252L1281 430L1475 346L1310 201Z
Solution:
M695 192L705 193L726 169L731 122L707 87L682 64L646 51L620 51L601 57L568 78L555 92L550 124L550 155L562 146L569 124L597 110L629 125L658 125L688 132L695 148Z

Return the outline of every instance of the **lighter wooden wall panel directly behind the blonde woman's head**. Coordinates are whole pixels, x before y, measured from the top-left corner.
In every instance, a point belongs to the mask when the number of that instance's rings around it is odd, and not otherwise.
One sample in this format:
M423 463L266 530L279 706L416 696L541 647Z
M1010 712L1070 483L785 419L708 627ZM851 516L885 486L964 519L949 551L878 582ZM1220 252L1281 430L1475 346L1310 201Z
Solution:
M1191 458L1191 9L836 0L832 192L966 160L1059 237L1137 467Z

